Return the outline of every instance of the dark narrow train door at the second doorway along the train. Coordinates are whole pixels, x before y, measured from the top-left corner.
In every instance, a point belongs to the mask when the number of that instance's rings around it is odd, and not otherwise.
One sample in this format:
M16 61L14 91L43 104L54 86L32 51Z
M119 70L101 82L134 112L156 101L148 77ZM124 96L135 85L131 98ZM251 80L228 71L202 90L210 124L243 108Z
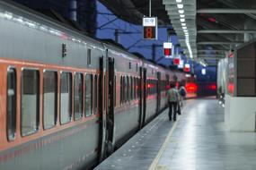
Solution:
M140 68L140 128L145 125L146 122L146 68Z

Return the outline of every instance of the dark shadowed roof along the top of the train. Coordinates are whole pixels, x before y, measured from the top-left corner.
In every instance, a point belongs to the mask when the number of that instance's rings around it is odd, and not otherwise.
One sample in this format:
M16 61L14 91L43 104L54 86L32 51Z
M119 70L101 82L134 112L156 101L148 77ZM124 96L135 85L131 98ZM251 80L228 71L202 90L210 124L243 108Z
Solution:
M77 22L66 20L66 18L62 17L61 15L59 15L58 13L56 13L54 11L41 10L39 12L36 12L36 11L32 10L31 8L23 6L22 4L17 4L10 0L2 0L0 3L2 3L2 4L4 3L5 5L8 5L8 6L12 5L14 10L22 11L26 15L31 15L32 17L35 17L36 19L40 19L41 21L45 21L48 24L51 24L52 26L57 26L59 29L63 29L69 33L75 34L75 36L77 36L77 37L86 38L86 40L91 41L91 42L89 41L88 43L95 43L98 46L101 46L102 48L105 46L110 47L119 52L123 52L126 55L130 55L132 57L141 59L144 62L146 62L147 64L153 64L154 66L161 67L162 69L165 69L165 70L168 69L169 71L182 72L182 71L179 71L178 69L173 69L172 67L167 67L163 64L157 64L156 62L154 62L151 59L146 59L146 57L140 53L137 53L137 52L130 53L130 52L128 52L128 50L125 47L123 47L119 43L116 43L112 39L100 39L100 38L92 37L89 34L87 34L82 29L82 27L79 26L79 24Z

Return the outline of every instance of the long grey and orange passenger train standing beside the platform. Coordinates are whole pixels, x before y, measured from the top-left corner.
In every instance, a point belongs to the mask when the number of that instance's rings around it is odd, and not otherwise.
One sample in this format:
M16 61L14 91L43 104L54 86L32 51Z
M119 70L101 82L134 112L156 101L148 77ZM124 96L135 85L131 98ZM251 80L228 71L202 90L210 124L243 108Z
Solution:
M186 81L127 51L0 1L0 169L90 169Z

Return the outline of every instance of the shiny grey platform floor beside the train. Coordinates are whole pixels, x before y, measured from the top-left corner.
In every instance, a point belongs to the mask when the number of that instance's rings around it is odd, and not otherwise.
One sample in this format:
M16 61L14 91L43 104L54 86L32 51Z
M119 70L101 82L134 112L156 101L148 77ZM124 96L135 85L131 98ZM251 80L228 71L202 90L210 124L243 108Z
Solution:
M164 111L95 169L255 170L256 133L226 131L216 99L190 99L177 122Z

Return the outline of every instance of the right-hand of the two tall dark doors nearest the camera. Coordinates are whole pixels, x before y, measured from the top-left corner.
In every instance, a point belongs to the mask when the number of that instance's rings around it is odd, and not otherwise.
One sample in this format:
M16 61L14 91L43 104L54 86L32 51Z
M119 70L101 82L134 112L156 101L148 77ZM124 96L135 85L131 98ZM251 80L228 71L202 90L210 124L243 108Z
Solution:
M107 60L107 151L108 154L113 152L115 143L115 119L114 119L114 106L115 106L115 68L114 59L108 57Z

